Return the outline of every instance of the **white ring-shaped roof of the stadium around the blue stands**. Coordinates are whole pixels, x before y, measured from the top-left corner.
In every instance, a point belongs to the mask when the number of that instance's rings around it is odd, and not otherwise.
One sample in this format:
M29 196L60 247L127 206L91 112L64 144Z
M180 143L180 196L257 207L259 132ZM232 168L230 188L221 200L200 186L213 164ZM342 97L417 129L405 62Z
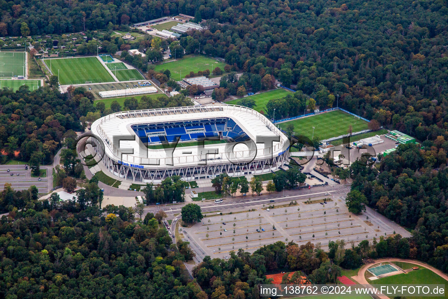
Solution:
M172 152L171 159L171 156L165 152L165 149L148 149L131 128L132 125L138 124L207 120L224 117L232 118L254 142L257 136L280 136L280 142L273 142L272 147L264 143L250 142L247 146L241 143L236 144L233 148L233 153L230 155L226 154L226 145L227 152L229 152L228 145L234 145L235 143L210 144L205 145L203 149L196 146L178 146ZM262 114L250 108L227 104L112 113L94 121L91 126L91 132L102 139L105 146L105 154L109 158L123 165L132 167L139 165L137 166L138 168L154 169L157 167L170 167L168 165L172 165L172 167L198 165L204 159L207 160L207 165L235 162L236 160L247 161L254 156L254 160L266 160L273 156L280 156L289 147L287 137ZM136 140L121 141L120 149L118 149L113 145L112 140L113 136L119 135L133 135ZM257 151L255 151L254 147L257 148ZM134 154L122 154L125 148L132 148ZM213 148L213 152L217 149L218 153L206 155L206 150L211 148ZM157 163L158 161L159 163Z

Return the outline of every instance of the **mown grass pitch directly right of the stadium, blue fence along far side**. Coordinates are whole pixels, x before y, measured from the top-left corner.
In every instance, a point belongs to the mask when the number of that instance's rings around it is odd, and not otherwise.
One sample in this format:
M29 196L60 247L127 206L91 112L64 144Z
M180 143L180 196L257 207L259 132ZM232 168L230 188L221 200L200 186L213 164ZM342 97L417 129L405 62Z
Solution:
M290 123L294 125L296 135L305 135L310 139L313 136L313 127L315 127L314 136L319 136L319 139L328 139L347 134L350 125L353 126L352 132L358 132L367 129L368 124L367 121L355 118L340 110L282 122L277 126L284 129Z

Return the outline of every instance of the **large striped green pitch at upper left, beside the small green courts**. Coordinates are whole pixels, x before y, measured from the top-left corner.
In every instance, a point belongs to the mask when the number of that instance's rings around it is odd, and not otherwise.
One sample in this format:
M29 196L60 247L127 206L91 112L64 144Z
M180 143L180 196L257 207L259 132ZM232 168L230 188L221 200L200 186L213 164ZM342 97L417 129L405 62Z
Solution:
M44 59L53 75L58 75L60 85L115 82L96 57Z

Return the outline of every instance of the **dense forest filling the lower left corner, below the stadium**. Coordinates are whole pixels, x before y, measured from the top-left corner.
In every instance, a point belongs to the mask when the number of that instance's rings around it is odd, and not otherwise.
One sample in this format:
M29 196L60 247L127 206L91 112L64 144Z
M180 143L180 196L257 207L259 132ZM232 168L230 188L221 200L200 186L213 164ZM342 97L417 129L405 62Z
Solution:
M188 250L154 218L118 210L33 200L3 216L0 298L198 298L182 262Z

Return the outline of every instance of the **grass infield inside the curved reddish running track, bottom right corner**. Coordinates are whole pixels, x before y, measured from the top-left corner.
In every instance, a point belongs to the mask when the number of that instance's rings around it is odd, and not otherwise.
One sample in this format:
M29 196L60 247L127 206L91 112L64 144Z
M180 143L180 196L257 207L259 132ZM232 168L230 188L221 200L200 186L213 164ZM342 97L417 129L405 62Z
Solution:
M397 275L392 275L388 277L383 277L371 281L371 284L375 285L385 285L385 284L406 284L406 285L421 285L425 284L442 284L446 285L448 282L444 280L439 275L435 274L429 269L422 268L411 271L409 273L401 273ZM412 297L413 299L424 299L430 297ZM445 293L445 297L435 297L435 298L448 298L448 293Z

